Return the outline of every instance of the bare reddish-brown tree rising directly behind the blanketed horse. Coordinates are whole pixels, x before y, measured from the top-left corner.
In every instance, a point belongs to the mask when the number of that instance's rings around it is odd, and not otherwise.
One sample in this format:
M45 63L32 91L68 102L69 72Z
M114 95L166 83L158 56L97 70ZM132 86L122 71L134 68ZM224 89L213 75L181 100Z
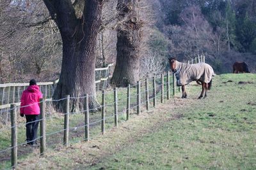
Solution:
M202 54L214 57L223 48L223 32L212 32L211 25L205 20L198 6L186 8L180 13L180 18L181 26L173 25L165 29L172 41L172 55L186 60Z

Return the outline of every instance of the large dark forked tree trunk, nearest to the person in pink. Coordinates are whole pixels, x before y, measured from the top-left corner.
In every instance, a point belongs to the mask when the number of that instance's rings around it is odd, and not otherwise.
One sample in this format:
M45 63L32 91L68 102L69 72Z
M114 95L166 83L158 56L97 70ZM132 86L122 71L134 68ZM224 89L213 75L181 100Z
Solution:
M63 41L63 60L60 81L53 99L62 99L67 94L70 95L70 105L72 111L75 111L83 106L84 101L83 98L76 97L88 94L90 109L97 109L100 105L95 90L95 47L100 28L102 1L87 0L83 16L79 19L76 18L76 11L70 1L58 2L54 7ZM47 8L49 9L49 6ZM58 101L54 105L61 111L64 102Z

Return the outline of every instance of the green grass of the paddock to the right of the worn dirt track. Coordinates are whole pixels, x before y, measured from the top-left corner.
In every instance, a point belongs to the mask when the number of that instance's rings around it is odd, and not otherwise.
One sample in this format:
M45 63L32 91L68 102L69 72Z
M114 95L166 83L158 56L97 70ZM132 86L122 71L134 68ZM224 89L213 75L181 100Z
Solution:
M223 74L213 83L207 99L170 111L179 118L90 168L255 169L256 75ZM199 93L189 87L189 97Z

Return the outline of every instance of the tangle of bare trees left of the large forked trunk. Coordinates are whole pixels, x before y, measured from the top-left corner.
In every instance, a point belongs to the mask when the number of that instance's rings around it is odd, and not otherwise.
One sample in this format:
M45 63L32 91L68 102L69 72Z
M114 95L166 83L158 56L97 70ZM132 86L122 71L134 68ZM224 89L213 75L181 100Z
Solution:
M46 67L48 73L60 70L60 32L42 1L1 1L0 11L2 83L28 81L31 76L42 81L44 75L36 72Z

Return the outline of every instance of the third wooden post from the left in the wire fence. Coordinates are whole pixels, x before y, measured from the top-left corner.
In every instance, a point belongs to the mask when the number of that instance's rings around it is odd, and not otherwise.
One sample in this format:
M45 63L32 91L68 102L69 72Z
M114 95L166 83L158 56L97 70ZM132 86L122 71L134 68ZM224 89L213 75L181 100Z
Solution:
M70 102L70 96L65 96L67 101L65 103L65 115L64 115L64 139L63 144L65 146L68 146L68 133L69 133L69 102Z

